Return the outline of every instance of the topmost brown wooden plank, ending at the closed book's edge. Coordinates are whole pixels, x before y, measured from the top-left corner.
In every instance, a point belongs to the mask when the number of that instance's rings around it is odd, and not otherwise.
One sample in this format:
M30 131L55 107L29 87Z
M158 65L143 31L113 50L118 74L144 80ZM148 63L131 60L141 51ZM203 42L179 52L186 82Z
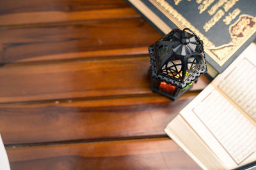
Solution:
M0 27L140 17L122 0L1 1Z

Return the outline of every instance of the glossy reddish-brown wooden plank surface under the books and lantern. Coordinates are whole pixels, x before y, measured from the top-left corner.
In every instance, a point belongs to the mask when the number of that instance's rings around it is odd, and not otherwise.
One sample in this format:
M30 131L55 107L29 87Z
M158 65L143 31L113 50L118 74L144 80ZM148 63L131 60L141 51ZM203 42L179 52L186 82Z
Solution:
M209 80L153 94L158 34L122 0L0 1L0 133L15 169L199 169L163 129Z

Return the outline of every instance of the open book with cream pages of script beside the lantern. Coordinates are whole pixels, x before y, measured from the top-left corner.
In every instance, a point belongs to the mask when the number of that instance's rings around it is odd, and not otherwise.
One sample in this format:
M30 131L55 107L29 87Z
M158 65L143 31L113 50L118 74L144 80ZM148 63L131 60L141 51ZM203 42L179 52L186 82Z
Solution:
M256 160L256 45L252 43L164 129L203 169Z

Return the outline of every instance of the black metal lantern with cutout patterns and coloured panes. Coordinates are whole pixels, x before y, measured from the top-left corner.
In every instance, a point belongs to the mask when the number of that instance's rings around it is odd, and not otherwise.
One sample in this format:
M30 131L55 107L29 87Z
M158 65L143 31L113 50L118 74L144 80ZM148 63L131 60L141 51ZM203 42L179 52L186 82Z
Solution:
M207 71L203 42L188 28L173 29L148 46L148 51L153 92L173 100L191 89Z

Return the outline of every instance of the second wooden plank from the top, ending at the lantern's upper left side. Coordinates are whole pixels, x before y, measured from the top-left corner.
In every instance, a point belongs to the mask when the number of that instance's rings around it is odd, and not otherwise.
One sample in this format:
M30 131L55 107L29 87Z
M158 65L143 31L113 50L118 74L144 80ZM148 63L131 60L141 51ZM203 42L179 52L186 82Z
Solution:
M0 56L8 63L148 53L147 46L160 37L141 18L1 30Z

